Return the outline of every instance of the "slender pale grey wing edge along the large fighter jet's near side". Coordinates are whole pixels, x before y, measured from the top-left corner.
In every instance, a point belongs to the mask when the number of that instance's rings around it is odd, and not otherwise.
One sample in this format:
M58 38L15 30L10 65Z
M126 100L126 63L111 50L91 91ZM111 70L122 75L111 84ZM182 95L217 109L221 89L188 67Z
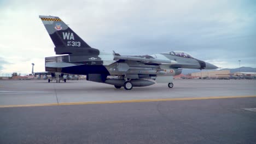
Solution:
M120 56L114 55L114 60L129 60L129 61L137 61L143 63L155 63L155 64L176 64L176 61L164 60L164 59L155 59L155 58L145 58L145 57L135 57L135 56Z

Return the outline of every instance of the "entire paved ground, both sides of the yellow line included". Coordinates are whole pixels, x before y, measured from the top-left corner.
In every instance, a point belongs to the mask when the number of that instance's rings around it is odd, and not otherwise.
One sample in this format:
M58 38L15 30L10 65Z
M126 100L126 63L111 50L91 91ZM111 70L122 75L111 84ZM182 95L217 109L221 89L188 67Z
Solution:
M0 81L0 143L256 143L255 80L174 80L131 91Z

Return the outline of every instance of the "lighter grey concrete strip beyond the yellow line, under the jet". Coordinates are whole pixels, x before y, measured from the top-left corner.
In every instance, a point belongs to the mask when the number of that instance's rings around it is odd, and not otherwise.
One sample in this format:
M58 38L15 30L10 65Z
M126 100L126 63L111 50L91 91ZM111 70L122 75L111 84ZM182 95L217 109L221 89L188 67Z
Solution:
M44 80L0 81L0 107L202 97L256 95L255 80L174 80L131 91L85 80L48 83Z

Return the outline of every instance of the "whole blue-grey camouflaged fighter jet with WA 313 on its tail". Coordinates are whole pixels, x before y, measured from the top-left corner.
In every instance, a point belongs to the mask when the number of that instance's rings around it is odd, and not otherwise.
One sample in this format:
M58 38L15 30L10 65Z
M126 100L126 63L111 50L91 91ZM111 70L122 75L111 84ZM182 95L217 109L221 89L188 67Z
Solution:
M88 81L107 83L115 88L144 87L156 82L173 87L173 76L186 69L217 69L183 51L144 56L106 53L89 46L57 16L39 16L55 45L55 57L45 57L45 70L86 75Z

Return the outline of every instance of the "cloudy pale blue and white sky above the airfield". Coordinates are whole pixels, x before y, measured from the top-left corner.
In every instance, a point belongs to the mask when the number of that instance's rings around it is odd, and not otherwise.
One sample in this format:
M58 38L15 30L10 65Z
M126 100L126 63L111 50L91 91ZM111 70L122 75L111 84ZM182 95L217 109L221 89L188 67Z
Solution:
M256 1L0 1L0 76L44 71L59 16L91 47L121 55L185 51L220 68L256 67ZM1 75L2 74L2 75Z

